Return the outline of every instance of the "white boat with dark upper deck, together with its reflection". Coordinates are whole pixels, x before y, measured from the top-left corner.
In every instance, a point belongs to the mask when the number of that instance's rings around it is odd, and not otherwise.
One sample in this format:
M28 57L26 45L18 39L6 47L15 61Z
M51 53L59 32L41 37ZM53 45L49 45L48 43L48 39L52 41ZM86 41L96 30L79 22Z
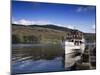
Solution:
M81 59L85 50L85 39L81 32L74 30L65 41L65 69Z

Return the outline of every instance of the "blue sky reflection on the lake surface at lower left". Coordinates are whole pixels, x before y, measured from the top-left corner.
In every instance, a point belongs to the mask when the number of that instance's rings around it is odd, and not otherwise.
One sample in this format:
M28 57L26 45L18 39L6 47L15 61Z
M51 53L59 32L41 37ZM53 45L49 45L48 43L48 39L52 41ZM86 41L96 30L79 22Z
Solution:
M30 73L30 72L49 72L63 70L62 58L57 57L53 60L25 60L17 62L12 66L13 73Z

